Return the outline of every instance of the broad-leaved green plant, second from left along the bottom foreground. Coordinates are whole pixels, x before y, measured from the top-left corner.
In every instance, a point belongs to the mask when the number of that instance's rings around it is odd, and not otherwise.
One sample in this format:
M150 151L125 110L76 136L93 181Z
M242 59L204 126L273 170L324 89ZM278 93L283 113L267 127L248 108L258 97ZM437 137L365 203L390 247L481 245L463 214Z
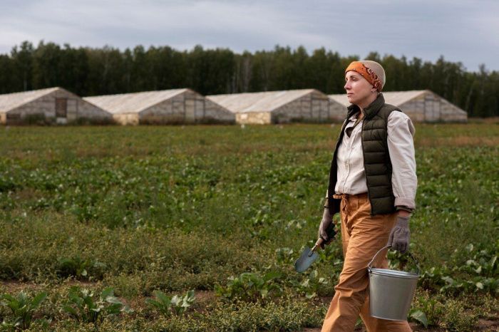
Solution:
M68 301L63 306L63 311L77 321L83 323L101 323L108 316L115 316L121 312L130 313L132 310L114 296L112 288L101 291L96 298L90 289L81 289L72 286L69 289Z

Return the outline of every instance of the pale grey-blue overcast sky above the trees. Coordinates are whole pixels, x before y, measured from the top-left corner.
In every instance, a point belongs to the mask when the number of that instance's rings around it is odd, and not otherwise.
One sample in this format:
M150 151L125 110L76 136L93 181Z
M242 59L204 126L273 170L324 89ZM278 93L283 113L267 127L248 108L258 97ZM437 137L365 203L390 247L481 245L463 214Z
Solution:
M0 53L21 41L71 46L200 44L242 52L324 46L499 70L498 0L0 0Z

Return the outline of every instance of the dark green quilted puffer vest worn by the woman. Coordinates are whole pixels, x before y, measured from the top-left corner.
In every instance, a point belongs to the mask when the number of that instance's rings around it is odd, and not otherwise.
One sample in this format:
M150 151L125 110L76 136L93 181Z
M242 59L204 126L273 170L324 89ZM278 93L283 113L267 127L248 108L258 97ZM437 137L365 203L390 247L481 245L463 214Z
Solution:
M393 105L385 103L385 98L380 93L371 105L364 109L362 121L362 151L364 153L364 170L366 170L367 193L371 202L371 215L396 212L393 206L395 197L391 187L391 161L388 150L388 117L394 110L401 111ZM346 119L359 112L359 107L350 105ZM332 214L339 212L341 199L333 198L336 187L336 153L343 140L345 121L339 133L333 160L329 170L329 211Z

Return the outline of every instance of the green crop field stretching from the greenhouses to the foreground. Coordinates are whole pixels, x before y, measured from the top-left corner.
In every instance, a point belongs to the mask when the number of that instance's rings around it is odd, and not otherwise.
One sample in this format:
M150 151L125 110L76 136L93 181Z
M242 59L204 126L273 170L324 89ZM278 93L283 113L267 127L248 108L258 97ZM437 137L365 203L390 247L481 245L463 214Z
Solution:
M304 274L293 263L317 237L338 133L1 127L0 330L319 331L340 241ZM499 125L417 125L415 140L409 321L496 331Z

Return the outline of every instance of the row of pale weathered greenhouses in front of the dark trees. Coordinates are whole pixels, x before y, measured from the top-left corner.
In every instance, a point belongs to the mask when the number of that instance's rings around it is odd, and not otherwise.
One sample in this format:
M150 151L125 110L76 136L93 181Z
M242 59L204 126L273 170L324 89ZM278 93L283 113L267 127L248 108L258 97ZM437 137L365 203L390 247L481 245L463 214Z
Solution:
M383 93L415 122L466 122L467 113L430 90ZM29 124L272 124L344 120L346 95L283 90L201 95L189 88L80 97L63 88L0 95L0 123Z

